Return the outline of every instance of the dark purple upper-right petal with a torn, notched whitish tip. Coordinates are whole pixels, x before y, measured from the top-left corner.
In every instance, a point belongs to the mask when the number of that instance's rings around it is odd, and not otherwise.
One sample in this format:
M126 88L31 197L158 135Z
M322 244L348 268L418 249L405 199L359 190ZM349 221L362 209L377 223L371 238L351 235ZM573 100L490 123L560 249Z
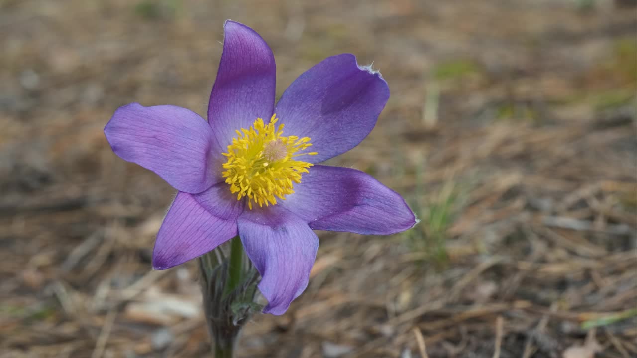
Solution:
M303 157L317 163L361 143L376 124L389 99L380 73L362 68L352 54L327 57L299 76L276 104L276 116L287 136L310 137Z

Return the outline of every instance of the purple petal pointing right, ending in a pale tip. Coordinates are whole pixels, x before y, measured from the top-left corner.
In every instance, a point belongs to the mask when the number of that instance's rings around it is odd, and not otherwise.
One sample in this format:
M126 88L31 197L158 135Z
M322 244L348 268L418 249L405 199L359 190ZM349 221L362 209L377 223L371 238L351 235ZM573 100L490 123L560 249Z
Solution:
M334 166L309 170L281 204L312 229L386 235L416 224L403 197L373 176Z

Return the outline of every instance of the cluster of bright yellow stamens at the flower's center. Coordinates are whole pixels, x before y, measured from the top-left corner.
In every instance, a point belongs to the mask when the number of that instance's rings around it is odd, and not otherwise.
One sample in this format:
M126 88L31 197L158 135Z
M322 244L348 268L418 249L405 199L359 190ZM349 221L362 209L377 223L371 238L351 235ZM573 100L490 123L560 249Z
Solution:
M294 192L293 183L301 182L301 174L308 173L312 164L297 161L301 155L316 155L317 152L296 154L311 146L310 138L282 136L283 124L275 127L278 118L273 115L269 124L257 118L250 129L236 131L237 136L228 146L224 155L223 176L230 185L230 191L237 194L237 200L248 197L248 207L252 202L259 206L276 204L276 197Z

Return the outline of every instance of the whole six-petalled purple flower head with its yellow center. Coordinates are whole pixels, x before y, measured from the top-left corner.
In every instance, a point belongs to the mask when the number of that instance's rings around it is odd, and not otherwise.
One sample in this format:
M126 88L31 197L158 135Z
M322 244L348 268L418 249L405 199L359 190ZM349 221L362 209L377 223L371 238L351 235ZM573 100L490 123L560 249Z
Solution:
M157 234L155 269L240 235L261 273L266 313L280 315L308 285L312 231L392 234L416 219L373 177L317 163L354 148L389 99L380 73L351 54L327 57L275 106L275 58L246 25L225 23L208 122L176 106L122 106L104 128L115 154L179 190Z

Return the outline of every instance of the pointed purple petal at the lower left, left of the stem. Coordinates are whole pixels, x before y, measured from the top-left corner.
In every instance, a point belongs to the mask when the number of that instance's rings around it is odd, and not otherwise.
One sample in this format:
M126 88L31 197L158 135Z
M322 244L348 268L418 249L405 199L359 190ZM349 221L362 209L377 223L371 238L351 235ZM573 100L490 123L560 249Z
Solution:
M228 209L225 218L217 217L192 195L178 192L157 234L153 268L182 264L236 236L236 216L230 215L232 212L236 210Z

